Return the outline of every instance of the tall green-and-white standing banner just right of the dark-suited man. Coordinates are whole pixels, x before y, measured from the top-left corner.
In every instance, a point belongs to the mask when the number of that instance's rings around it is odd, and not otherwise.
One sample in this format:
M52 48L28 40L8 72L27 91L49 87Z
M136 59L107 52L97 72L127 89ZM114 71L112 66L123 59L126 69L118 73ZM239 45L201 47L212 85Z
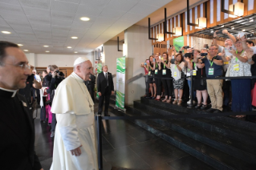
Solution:
M116 59L116 107L124 110L125 57Z

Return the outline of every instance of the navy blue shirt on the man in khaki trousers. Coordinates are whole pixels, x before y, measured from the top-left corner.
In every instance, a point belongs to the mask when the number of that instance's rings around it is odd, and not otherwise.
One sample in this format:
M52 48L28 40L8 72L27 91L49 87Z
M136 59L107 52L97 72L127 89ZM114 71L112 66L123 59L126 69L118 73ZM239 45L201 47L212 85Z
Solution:
M213 57L213 59L222 60L221 56L219 56L219 55ZM222 76L223 75L223 67L219 66L215 63L213 63L213 66L211 67L210 63L212 61L209 61L209 59L207 59L207 57L205 57L204 59L201 59L201 62L205 63L206 77L213 78L213 77L216 77L216 76ZM209 68L214 69L213 75L209 75Z

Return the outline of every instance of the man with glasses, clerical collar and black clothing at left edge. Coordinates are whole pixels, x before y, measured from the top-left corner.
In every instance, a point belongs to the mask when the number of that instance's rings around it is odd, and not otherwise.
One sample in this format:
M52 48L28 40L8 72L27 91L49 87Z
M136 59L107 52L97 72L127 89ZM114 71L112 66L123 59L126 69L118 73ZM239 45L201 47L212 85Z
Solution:
M0 169L42 170L34 151L35 128L25 97L30 66L26 55L12 42L0 41Z

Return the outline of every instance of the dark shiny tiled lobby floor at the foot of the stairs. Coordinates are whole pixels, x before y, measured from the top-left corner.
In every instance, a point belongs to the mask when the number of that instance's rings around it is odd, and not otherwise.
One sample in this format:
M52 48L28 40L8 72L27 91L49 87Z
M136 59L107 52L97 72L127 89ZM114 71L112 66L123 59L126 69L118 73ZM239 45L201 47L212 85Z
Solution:
M43 169L48 170L54 142L50 126L40 122L39 114L35 119L35 152ZM119 114L110 109L109 115ZM112 169L214 169L128 120L103 120L102 136L103 158Z

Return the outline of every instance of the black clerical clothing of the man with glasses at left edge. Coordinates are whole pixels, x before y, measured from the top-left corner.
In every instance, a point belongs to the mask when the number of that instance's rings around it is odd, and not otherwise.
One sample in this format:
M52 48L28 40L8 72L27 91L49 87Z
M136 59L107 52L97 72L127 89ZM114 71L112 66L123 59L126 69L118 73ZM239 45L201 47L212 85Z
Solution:
M40 169L34 152L34 124L26 99L14 91L0 89L1 169Z

